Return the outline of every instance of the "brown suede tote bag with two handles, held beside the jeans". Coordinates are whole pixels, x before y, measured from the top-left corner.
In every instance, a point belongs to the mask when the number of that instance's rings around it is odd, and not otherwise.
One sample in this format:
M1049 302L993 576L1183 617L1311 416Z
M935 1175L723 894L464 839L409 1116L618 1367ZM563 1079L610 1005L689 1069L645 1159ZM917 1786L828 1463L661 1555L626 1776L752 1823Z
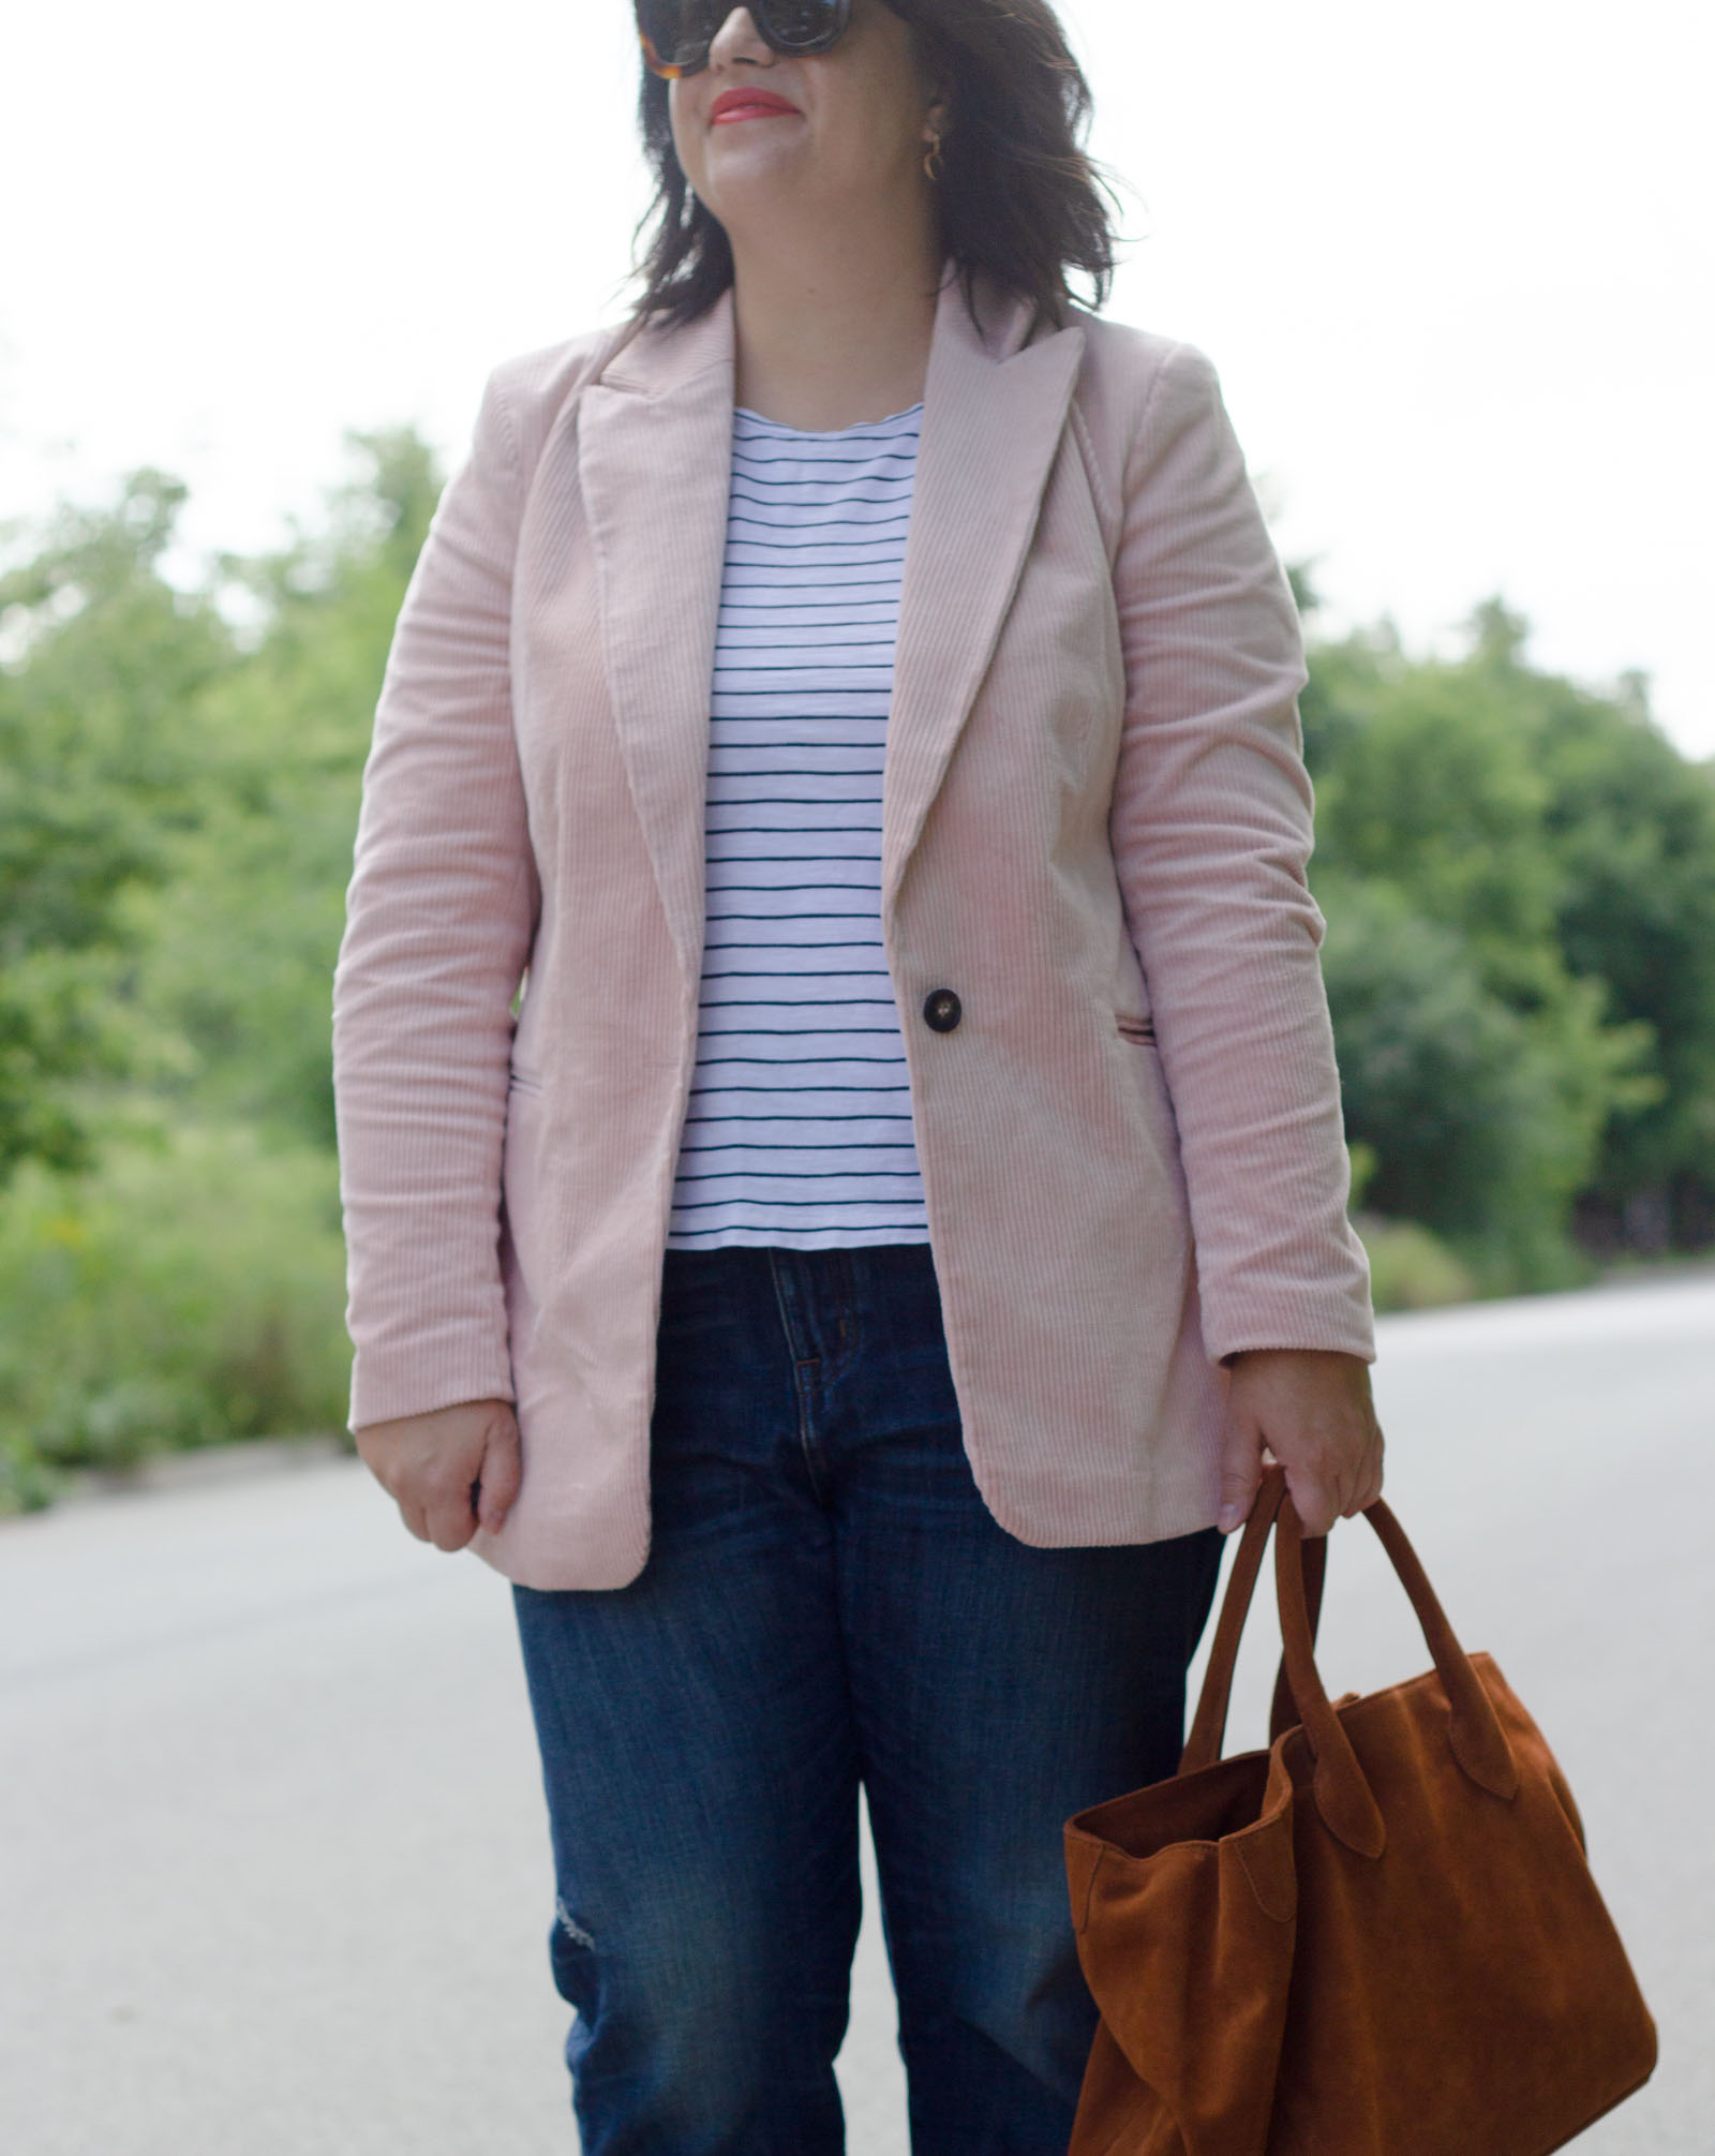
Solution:
M1066 1824L1101 2009L1071 2156L1547 2156L1655 2068L1553 1755L1392 1511L1366 1518L1435 1669L1329 1703L1327 1544L1271 1468L1179 1774ZM1273 1742L1222 1759L1275 1522Z

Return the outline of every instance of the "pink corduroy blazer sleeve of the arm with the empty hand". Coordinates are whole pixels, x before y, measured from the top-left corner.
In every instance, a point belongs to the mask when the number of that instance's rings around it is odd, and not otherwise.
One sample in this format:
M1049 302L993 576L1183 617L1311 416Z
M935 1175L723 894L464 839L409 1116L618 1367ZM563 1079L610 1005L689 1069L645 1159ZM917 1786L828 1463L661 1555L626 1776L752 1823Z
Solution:
M508 666L521 492L491 382L394 632L334 975L353 1429L513 1397L500 1160L539 912Z

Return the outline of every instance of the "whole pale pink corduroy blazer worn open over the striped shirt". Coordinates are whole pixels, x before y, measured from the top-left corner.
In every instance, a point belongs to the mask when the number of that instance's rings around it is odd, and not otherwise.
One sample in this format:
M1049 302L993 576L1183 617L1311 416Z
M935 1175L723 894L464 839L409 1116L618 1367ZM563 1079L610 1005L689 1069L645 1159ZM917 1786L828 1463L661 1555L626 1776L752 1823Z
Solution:
M1301 645L1202 354L980 315L950 280L881 927L982 1496L1023 1542L1153 1542L1215 1518L1222 1356L1372 1354ZM334 987L351 1419L515 1399L524 1485L474 1548L532 1587L649 1552L730 425L730 300L502 367L364 774Z

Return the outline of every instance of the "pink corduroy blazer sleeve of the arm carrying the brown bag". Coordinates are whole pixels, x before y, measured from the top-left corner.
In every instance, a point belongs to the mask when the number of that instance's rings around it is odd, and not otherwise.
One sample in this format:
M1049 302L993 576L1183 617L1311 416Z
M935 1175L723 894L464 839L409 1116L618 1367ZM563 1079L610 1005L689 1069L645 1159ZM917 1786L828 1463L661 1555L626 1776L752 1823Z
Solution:
M1114 589L1127 714L1110 830L1179 1121L1204 1345L1368 1360L1306 882L1303 647L1215 371L1189 345L1168 351L1131 440Z

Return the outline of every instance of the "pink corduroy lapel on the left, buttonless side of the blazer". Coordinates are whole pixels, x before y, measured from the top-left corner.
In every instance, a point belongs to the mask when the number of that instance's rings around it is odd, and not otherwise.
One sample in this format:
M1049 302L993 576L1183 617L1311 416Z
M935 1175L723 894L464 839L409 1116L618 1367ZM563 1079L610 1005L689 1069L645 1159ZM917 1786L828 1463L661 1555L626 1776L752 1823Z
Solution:
M608 692L687 983L702 966L709 688L733 457L733 302L644 330L584 390L577 470Z

